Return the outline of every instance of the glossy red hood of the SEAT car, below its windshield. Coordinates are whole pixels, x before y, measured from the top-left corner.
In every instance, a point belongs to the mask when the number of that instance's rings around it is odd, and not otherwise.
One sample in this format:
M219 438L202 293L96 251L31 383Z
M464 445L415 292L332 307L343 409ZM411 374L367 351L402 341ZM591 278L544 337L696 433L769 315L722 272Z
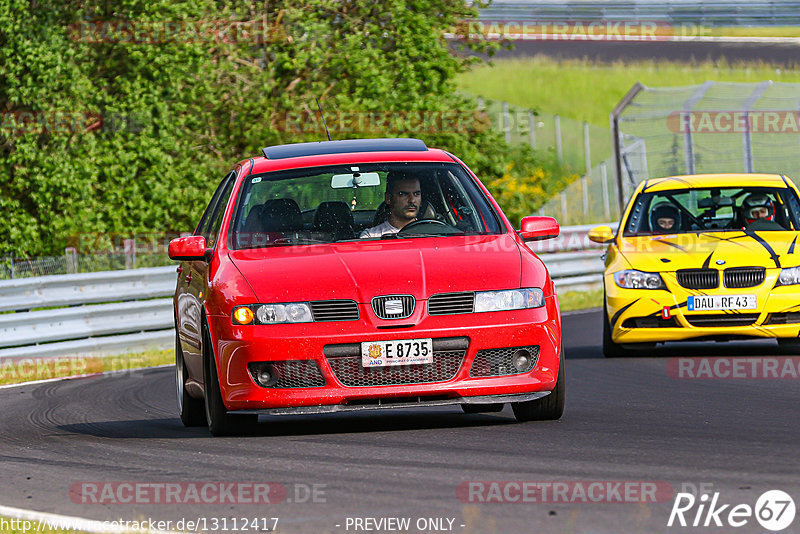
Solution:
M520 251L508 234L232 250L259 302L352 299L519 287Z

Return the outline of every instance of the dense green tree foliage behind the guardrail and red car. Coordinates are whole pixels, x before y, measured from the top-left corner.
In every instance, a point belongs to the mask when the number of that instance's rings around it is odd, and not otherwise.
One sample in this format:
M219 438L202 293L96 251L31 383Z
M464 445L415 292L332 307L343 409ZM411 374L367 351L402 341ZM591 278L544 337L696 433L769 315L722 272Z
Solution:
M0 0L0 254L190 231L233 162L324 136L316 98L335 139L420 137L487 183L553 190L557 170L455 91L477 60L443 33L475 15L463 0ZM515 213L543 200L518 197Z

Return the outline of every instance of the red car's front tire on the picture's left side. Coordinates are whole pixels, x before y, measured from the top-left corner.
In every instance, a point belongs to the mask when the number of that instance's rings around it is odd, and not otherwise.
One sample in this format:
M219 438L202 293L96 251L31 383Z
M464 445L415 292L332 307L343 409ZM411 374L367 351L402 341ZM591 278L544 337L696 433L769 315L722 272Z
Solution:
M230 414L222 401L217 374L217 360L207 328L203 328L203 382L205 384L205 416L213 436L244 434L255 426L257 415Z

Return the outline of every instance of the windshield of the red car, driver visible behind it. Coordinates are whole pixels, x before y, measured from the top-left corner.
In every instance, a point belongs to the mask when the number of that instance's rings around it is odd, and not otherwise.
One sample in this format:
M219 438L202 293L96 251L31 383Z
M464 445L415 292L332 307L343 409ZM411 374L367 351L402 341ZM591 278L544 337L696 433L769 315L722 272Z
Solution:
M231 247L245 249L495 234L502 226L459 165L355 163L248 176L230 232Z

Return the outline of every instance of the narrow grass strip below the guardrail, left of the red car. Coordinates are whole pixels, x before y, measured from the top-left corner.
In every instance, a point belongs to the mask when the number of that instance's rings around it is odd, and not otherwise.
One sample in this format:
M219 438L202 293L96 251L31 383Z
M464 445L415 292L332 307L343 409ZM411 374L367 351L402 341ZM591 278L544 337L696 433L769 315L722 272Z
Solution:
M122 371L154 367L175 361L170 350L118 354L114 356L76 356L0 361L0 385L34 380L65 378L104 371Z

